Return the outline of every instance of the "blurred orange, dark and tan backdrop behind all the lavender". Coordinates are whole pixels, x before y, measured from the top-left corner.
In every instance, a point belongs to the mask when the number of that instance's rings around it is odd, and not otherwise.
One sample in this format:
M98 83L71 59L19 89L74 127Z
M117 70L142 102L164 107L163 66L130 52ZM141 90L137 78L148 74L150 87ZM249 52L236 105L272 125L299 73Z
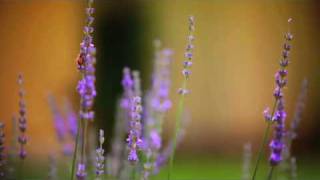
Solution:
M48 152L59 148L46 100L48 93L59 102L69 97L74 108L78 107L75 58L85 6L81 0L0 0L0 119L8 124L10 134L10 119L17 112L16 77L23 72L31 139L29 163L46 162ZM293 153L301 179L320 177L316 171L320 168L319 1L98 0L95 7L98 97L94 126L107 130L109 144L115 103L122 91L122 68L140 70L143 88L148 88L155 38L175 52L174 106L165 127L165 138L171 137L176 90L182 81L187 17L196 18L192 93L186 101L192 122L178 149L174 173L180 179L239 179L246 142L253 144L255 157L265 127L262 111L273 101L273 75L286 22L292 17L295 39L285 90L288 122L301 82L305 77L309 80L306 111Z

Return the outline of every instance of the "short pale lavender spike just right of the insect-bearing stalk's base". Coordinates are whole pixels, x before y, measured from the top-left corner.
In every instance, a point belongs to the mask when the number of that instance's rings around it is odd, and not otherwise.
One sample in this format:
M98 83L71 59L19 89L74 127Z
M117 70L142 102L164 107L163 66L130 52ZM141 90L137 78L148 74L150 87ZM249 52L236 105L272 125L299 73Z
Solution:
M102 147L104 143L104 131L100 129L99 133L99 148L96 150L96 175L97 177L104 174L104 149Z

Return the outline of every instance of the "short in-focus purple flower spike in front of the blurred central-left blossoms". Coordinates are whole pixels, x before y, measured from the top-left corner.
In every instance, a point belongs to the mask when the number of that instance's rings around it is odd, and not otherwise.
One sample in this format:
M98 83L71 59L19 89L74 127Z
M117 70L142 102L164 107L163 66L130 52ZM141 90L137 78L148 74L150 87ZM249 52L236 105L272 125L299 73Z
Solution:
M139 161L137 151L143 146L143 141L141 139L141 113L141 97L134 96L131 100L131 122L129 136L127 138L129 147L128 160L131 163Z

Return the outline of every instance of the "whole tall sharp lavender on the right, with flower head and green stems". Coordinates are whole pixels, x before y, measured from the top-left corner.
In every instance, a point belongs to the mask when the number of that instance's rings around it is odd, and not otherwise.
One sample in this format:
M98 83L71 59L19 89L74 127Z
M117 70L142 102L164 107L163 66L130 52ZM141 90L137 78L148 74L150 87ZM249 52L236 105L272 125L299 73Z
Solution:
M292 19L288 19L288 25L290 26ZM269 108L264 110L264 117L267 122L267 127L265 130L265 134L262 140L262 144L260 146L257 162L253 171L252 180L255 180L256 173L258 171L259 163L262 157L263 149L267 143L270 127L273 123L275 123L275 131L274 131L274 139L270 143L271 155L269 158L271 169L268 174L268 179L272 178L272 173L274 167L277 166L281 160L281 152L284 148L283 137L285 132L285 118L286 112L284 110L284 98L283 98L283 88L287 84L286 76L288 71L286 67L289 64L289 52L291 49L290 41L293 39L293 35L290 33L290 29L288 28L288 32L285 34L285 43L283 45L282 59L280 60L280 69L275 74L275 84L276 88L274 90L274 105L272 108L272 112L270 113Z

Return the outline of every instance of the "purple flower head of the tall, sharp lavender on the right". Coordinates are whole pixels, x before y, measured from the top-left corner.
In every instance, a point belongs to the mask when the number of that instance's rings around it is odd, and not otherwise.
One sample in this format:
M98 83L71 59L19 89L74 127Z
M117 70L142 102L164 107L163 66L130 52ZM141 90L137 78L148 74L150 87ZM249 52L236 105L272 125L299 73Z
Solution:
M291 22L291 19L288 20ZM276 100L275 111L270 114L269 108L264 111L265 119L269 122L276 123L274 129L274 138L270 143L271 155L269 158L271 166L276 166L282 161L282 151L285 147L284 145L284 135L285 135L285 119L286 112L284 110L284 98L283 98L283 88L287 84L287 74L288 71L286 67L289 64L289 52L291 49L290 41L293 39L293 35L290 32L285 34L285 43L283 46L282 59L280 60L280 69L275 75L276 88L274 90L274 97Z

